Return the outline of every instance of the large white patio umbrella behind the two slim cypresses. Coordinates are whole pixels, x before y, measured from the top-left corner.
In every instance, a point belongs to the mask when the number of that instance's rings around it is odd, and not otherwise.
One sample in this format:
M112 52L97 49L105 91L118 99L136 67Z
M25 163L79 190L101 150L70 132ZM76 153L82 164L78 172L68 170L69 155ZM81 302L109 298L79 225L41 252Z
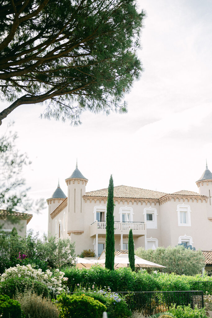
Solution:
M95 264L105 264L105 259L93 260ZM114 268L119 267L128 267L129 266L129 257L128 254L120 254L114 258ZM135 267L166 267L159 265L153 262L150 262L146 259L142 259L135 255Z

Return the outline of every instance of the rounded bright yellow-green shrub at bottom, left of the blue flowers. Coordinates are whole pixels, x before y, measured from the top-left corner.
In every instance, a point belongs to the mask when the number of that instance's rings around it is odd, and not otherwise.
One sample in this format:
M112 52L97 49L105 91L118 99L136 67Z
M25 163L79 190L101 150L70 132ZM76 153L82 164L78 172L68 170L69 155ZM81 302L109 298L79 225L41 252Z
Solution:
M61 294L57 297L60 318L101 318L106 306L85 294L72 296Z

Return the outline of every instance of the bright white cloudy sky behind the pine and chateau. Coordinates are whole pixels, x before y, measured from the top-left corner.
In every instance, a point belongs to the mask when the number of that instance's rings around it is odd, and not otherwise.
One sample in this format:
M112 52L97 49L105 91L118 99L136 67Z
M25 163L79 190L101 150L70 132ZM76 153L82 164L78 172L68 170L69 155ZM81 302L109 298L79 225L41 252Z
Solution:
M17 107L0 127L15 121L17 148L32 161L23 176L37 200L51 197L76 166L86 191L128 185L172 193L198 191L207 158L212 171L212 2L140 0L147 17L138 56L144 72L125 96L127 114L81 116L82 125L40 119L44 106ZM0 104L0 110L7 106ZM27 229L47 233L47 204Z

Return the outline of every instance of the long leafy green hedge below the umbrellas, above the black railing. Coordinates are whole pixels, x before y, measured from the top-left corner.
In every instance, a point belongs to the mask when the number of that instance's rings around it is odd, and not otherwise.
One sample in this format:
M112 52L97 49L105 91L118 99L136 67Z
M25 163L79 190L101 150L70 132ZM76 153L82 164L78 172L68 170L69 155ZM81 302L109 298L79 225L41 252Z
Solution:
M195 276L176 275L174 273L147 273L147 271L132 272L130 268L120 268L110 271L106 268L95 266L90 269L66 267L63 269L68 277L68 287L74 291L77 284L81 287L95 288L110 287L112 291L177 291L177 290L203 290L204 285L195 281L211 281L211 277L202 278ZM212 283L211 283L212 288Z

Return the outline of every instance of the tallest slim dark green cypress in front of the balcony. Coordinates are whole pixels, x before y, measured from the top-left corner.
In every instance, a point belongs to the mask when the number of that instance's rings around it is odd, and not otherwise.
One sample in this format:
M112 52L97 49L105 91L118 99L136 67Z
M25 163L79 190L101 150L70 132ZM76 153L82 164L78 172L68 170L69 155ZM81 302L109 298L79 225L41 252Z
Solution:
M106 213L106 251L105 251L105 267L114 269L114 253L115 253L115 239L114 239L114 202L113 202L113 177L110 176L107 196L107 213Z

